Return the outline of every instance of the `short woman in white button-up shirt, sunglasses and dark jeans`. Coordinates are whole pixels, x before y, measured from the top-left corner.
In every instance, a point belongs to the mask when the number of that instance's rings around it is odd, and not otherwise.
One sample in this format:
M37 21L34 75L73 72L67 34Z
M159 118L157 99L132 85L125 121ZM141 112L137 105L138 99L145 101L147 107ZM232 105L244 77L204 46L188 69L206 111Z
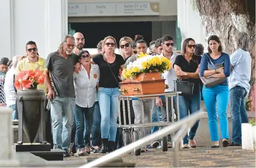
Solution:
M78 156L90 154L90 134L92 133L96 85L99 81L99 66L90 64L90 54L82 50L79 54L82 70L74 73L76 95L75 122ZM86 124L86 126L85 126ZM85 132L85 136L84 135Z

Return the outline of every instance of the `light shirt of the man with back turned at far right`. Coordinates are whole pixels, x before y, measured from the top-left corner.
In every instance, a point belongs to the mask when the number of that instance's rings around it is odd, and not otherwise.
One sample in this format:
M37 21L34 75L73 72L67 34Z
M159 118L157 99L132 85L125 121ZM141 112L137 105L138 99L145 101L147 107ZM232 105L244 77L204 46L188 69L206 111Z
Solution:
M251 63L252 59L249 52L241 50L240 48L236 50L232 55L230 55L230 62L233 66L229 81L229 90L235 86L244 87L247 93L250 91L250 77L251 77Z

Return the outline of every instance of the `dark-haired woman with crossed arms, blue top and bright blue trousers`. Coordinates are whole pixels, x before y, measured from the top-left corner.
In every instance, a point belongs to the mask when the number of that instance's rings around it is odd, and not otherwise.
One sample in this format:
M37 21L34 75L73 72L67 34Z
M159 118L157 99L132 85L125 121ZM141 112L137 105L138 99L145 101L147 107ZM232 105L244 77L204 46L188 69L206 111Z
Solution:
M224 82L221 82L216 86L208 88L205 86L203 87L204 103L209 120L210 140L214 143L211 147L219 147L216 103L221 127L222 145L223 147L227 147L229 145L227 140L229 138L227 116L229 89L227 77L229 77L231 72L231 63L229 55L222 52L221 41L218 36L210 36L208 38L208 45L209 53L204 53L202 57L200 76L226 78Z

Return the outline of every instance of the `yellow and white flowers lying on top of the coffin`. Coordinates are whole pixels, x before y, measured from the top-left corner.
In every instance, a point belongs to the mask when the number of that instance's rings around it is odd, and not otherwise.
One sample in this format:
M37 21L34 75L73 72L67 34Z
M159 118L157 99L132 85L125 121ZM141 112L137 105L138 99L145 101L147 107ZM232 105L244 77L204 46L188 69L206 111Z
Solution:
M159 72L171 69L171 61L161 55L140 53L135 62L130 62L122 72L122 79L133 79L141 73Z

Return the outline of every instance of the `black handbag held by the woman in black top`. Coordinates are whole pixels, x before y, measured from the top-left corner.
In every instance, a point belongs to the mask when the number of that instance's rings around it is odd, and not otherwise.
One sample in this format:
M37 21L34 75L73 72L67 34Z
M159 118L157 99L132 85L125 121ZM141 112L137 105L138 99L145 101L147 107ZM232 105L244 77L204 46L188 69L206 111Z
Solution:
M177 78L174 80L174 89L175 91L181 92L181 96L192 96L194 83L189 81L182 81L181 78Z

